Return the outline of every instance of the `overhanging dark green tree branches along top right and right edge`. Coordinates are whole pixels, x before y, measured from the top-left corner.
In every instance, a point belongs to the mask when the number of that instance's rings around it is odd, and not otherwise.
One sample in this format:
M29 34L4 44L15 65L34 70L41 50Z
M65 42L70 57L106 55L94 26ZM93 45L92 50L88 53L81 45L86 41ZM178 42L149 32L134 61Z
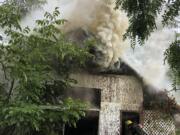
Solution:
M165 11L162 9L165 8ZM129 28L124 38L131 39L132 47L137 41L140 45L148 39L151 33L156 30L156 18L162 14L162 24L167 26L176 22L176 17L180 15L179 0L116 0L115 9L122 9L129 17ZM180 85L180 39L170 45L165 52L165 60L170 65L170 70L174 78L173 88Z

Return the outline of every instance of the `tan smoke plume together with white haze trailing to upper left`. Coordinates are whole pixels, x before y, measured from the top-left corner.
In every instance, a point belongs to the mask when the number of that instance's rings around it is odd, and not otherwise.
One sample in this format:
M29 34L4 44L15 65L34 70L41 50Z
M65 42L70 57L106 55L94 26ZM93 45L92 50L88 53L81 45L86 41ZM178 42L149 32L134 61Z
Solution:
M62 28L65 33L81 28L99 41L95 49L100 54L94 54L94 62L100 70L110 69L119 61L128 47L128 41L123 41L128 18L124 12L114 10L114 0L47 0L42 9L28 14L22 25L33 28L35 20L42 19L45 11L52 12L55 7L60 7L61 17L68 20Z

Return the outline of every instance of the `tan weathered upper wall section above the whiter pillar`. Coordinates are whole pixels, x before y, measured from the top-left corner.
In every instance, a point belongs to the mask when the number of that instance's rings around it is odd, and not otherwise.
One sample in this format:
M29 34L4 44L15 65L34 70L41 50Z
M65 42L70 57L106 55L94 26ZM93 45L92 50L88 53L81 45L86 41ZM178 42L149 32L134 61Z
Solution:
M121 110L139 111L143 103L142 86L133 76L74 74L77 87L101 90L101 102L117 103Z

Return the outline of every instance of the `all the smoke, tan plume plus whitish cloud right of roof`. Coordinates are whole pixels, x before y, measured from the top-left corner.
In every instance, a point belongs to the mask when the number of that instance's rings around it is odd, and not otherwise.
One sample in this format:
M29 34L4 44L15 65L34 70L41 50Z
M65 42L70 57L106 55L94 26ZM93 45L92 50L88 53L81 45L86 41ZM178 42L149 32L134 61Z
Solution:
M137 46L132 50L129 42L122 40L128 28L128 18L124 12L113 9L113 2L114 0L48 0L43 9L31 12L22 24L33 26L36 19L43 18L45 11L51 12L55 7L60 7L62 18L68 20L63 27L66 33L81 29L100 41L95 49L96 52L101 52L101 55L97 55L101 58L96 59L96 62L102 69L113 67L120 58L142 76L147 84L161 90L171 89L171 80L167 75L168 65L164 65L163 53L174 39L173 31L158 25L158 30L145 46Z

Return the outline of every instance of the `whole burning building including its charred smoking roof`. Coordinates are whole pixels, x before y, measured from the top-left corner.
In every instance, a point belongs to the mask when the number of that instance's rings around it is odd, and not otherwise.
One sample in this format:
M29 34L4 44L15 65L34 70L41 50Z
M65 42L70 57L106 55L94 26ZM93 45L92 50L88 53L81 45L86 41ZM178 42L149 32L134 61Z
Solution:
M66 126L65 135L126 135L127 120L142 124L148 135L175 135L173 114L168 112L174 106L165 108L170 105L168 97L144 86L143 79L120 58L115 62L109 53L112 50L93 32L77 28L67 37L82 47L89 39L96 42L89 48L94 57L87 68L72 75L78 83L64 91L66 97L89 103L87 116L77 128Z

